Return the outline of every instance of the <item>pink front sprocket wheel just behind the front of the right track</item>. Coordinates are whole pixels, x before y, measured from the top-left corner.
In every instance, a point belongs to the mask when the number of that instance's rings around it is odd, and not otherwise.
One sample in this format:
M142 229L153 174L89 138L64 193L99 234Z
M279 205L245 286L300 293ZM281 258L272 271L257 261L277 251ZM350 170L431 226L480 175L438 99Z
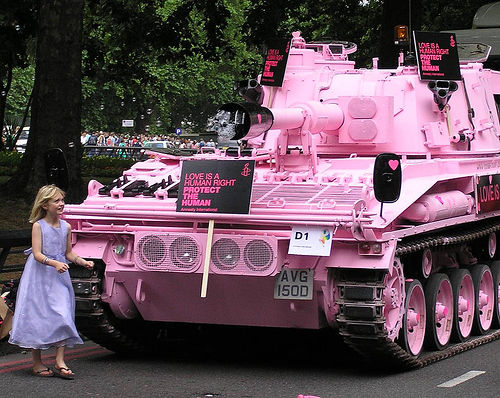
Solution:
M394 258L392 270L384 281L384 318L387 337L394 341L401 328L404 314L404 287L403 267L399 258Z

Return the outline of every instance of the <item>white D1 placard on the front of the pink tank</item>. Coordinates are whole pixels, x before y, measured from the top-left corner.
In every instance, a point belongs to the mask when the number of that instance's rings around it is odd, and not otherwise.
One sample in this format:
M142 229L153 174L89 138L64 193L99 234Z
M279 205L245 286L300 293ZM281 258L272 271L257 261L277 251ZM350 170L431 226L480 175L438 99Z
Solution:
M333 229L328 227L293 227L288 254L329 256Z

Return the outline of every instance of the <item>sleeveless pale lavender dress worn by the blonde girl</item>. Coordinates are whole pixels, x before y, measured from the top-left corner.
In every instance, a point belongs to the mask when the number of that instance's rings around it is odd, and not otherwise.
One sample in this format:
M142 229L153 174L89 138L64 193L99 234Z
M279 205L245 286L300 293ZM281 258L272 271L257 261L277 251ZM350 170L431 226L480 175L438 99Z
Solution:
M68 225L59 228L39 220L42 253L67 263L65 258ZM9 343L24 348L83 344L75 326L75 293L69 271L58 273L54 267L35 260L31 253L19 283Z

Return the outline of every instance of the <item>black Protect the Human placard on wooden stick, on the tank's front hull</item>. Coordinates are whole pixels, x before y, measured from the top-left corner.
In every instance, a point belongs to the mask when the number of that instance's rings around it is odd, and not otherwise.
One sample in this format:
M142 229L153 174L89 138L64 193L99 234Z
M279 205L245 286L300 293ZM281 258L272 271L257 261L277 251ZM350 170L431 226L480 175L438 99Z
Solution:
M185 160L177 211L248 214L254 160Z

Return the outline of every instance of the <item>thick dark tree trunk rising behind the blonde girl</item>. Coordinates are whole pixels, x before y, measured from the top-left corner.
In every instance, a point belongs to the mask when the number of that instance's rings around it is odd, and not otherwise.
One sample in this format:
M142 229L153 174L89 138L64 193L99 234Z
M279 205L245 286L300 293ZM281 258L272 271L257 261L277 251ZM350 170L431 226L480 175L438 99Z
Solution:
M26 152L4 192L34 198L47 184L45 153L61 148L69 171L67 202L82 199L81 57L84 0L39 1L35 84ZM5 189L6 188L6 189Z

